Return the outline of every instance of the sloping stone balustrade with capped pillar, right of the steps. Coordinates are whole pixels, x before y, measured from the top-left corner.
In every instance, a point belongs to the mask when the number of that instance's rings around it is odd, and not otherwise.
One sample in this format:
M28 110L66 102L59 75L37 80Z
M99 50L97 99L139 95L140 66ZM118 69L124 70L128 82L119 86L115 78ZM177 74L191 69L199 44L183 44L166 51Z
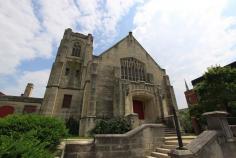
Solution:
M186 150L173 149L172 158L233 158L236 143L224 111L207 112L208 130L201 133L186 146Z

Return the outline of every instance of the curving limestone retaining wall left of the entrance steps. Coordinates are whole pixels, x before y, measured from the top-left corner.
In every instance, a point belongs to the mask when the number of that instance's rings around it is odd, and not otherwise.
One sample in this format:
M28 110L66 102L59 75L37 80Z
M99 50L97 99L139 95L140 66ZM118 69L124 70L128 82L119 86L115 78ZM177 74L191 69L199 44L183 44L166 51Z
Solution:
M143 158L163 144L164 126L144 124L125 134L96 135L88 144L67 143L64 158Z

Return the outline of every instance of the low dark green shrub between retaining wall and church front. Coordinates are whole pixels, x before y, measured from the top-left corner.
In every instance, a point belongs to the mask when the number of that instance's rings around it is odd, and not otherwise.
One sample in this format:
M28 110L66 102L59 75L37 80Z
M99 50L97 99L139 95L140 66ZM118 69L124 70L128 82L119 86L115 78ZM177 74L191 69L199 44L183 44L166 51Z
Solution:
M130 121L125 118L117 117L98 120L91 134L123 134L129 130L131 130Z

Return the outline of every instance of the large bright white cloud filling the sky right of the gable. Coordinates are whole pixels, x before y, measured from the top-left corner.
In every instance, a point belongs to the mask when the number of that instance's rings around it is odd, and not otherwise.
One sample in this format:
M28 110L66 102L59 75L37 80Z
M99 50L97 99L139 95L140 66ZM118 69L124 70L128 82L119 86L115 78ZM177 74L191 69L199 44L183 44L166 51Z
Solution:
M191 81L207 67L235 59L236 18L222 15L226 5L227 0L150 0L136 12L134 34L167 69L181 108L184 78Z

